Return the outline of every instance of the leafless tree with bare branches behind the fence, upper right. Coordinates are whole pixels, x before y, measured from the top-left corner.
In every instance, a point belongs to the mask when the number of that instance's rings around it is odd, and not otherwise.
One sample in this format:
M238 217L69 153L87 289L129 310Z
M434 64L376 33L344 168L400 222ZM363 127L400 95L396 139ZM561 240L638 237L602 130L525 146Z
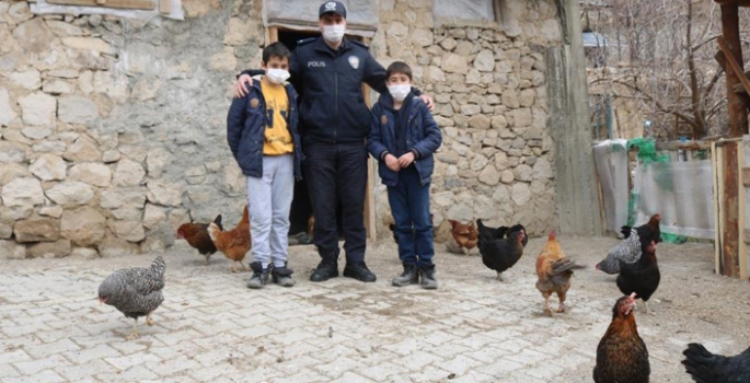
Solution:
M634 97L654 123L653 135L693 139L726 130L723 69L714 56L720 14L714 1L610 0L598 18L602 31L628 62L596 72L591 84L613 97ZM742 21L750 27L750 15ZM587 20L590 20L587 19ZM748 48L743 43L743 51ZM624 50L624 53L623 53Z

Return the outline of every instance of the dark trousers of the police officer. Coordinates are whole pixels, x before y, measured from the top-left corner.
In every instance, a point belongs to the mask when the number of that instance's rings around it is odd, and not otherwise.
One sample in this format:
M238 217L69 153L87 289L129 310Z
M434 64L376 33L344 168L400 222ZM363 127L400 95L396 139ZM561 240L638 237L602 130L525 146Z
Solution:
M364 142L304 140L305 178L315 216L313 242L321 255L338 254L336 205L342 204L346 262L364 262L367 150Z

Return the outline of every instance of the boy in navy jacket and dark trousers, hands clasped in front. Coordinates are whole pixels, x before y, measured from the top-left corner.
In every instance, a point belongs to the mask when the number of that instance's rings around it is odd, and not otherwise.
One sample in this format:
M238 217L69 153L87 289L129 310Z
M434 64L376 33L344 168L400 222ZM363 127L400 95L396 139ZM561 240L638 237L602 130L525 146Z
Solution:
M368 150L379 160L379 173L388 186L388 200L395 220L399 257L404 272L393 286L418 283L437 289L435 245L429 213L429 184L442 136L432 115L412 93L412 69L402 61L388 67L388 94L372 107Z

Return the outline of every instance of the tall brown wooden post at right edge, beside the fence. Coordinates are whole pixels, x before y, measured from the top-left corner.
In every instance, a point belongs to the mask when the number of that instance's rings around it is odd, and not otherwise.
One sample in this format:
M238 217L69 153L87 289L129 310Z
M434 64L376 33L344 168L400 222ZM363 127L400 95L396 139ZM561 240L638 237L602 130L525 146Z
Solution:
M722 30L723 44L726 44L731 58L742 68L742 46L739 36L739 5L737 3L722 4ZM726 56L726 54L725 54ZM748 131L748 115L746 98L734 92L735 85L741 83L735 70L726 71L727 81L727 109L729 111L729 137L742 137ZM738 178L739 164L737 161L737 142L728 142L724 147L725 172L723 199L724 231L722 241L722 274L725 276L739 276L739 200Z

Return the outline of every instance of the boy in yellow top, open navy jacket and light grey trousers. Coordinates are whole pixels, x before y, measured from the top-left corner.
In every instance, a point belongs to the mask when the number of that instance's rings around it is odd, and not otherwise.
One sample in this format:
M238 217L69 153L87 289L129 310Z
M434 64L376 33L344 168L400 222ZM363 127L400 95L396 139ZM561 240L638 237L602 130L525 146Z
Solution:
M234 98L227 117L227 141L247 177L247 208L253 275L251 289L274 282L291 287L287 267L289 210L295 178L301 178L300 136L297 130L297 93L289 78L289 49L274 43L263 49L265 76L250 93Z

